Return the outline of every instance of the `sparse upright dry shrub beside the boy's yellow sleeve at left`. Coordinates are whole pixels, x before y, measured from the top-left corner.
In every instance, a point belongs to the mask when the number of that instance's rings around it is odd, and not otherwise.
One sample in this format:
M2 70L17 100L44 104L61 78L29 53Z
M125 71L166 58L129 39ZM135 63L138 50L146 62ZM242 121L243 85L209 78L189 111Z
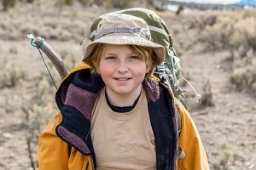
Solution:
M21 110L25 113L26 123L26 146L30 165L33 170L37 167L37 145L39 135L44 126L49 122L55 111L53 106L48 103L49 82L43 77L37 82L37 89L31 95L22 95Z

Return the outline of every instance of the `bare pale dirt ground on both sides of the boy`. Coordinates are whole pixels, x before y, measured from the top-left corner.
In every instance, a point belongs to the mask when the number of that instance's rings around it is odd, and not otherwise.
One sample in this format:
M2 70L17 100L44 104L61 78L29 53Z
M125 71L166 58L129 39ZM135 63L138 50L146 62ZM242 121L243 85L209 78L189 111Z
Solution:
M1 17L1 22L8 16L5 14ZM58 54L63 50L69 53L76 58L74 62L77 63L86 45L86 41L82 46L73 40L47 42ZM189 79L199 94L203 94L207 81L211 85L214 105L207 107L198 104L191 88L184 85L188 91L189 114L201 135L211 169L256 169L256 94L247 89L238 91L230 84L229 52L197 53L189 50L184 51L180 57L183 77ZM20 108L26 102L24 96L29 97L37 90L35 81L43 77L43 74L47 75L47 72L38 50L31 46L28 38L17 41L0 37L0 59L2 65L10 60L19 63L20 67L26 68L28 75L14 87L0 89L0 169L32 169L26 144L26 114ZM5 80L1 77L0 81ZM181 83L185 84L182 80ZM50 84L49 103L53 108L52 114L56 111L54 89ZM36 150L36 145L32 147ZM35 157L35 152L32 156Z

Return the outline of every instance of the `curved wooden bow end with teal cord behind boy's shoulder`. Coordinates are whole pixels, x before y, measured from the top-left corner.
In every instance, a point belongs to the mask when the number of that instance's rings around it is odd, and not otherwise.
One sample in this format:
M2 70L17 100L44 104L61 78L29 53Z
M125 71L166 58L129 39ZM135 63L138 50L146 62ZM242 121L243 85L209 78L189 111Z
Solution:
M66 77L67 70L64 66L64 63L63 63L61 57L55 52L55 50L53 48L51 48L49 46L49 44L47 42L44 41L44 38L42 38L42 37L35 38L35 37L33 37L32 34L27 35L27 37L29 37L31 39L32 46L35 48L38 48L40 54L41 54L41 52L40 52L40 49L41 49L44 52L44 54L47 55L47 57L50 59L50 61L53 63L53 65L55 65L55 68L58 71L61 79ZM41 54L41 56L42 56L42 54ZM44 60L43 56L42 56L42 59ZM44 62L44 65L46 66L47 70L49 71L45 62ZM50 72L49 72L49 76L51 77ZM51 77L51 79L54 82L52 77ZM55 82L54 82L54 84L55 84Z

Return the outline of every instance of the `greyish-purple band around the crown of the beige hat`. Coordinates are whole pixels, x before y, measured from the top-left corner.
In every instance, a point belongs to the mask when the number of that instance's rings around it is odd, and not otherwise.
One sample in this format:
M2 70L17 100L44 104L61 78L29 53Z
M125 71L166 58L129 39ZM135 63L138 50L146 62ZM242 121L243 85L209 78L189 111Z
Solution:
M141 33L141 37L148 37L150 39L150 35L146 34L145 32L141 31L142 28L128 28L128 27L112 27L112 28L106 28L95 35L95 40L99 39L100 37L103 37L110 33Z

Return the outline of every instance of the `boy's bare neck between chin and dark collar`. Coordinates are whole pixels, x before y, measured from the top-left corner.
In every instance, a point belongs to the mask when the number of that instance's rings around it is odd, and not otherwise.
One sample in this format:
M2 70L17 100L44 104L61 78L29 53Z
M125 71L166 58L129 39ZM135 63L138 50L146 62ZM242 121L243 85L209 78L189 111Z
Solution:
M111 105L125 107L134 104L137 97L141 94L142 85L131 91L129 94L116 94L111 89L106 87L108 99Z

